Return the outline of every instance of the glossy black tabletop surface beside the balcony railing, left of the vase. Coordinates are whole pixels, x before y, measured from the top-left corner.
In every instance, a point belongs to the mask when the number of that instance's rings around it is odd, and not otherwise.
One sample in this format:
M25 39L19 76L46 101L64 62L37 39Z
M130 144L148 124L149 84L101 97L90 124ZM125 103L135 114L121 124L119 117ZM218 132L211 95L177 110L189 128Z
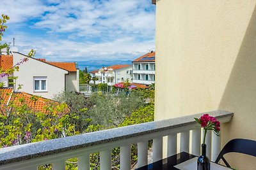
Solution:
M163 160L159 160L157 162L154 162L152 164L148 164L147 166L143 166L138 168L137 170L161 170L161 169L168 169L168 170L179 170L177 169L176 166L177 164L180 164L182 162L185 162L186 160L192 159L196 157L195 155L191 155L189 153L186 152L180 152L176 155L173 155L171 157L168 157L166 159Z

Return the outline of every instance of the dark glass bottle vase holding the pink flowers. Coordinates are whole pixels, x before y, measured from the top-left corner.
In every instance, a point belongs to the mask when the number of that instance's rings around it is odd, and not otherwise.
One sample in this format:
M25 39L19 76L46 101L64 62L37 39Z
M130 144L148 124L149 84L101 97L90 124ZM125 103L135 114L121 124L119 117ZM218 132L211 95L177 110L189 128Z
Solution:
M210 160L206 157L206 145L202 144L202 155L197 159L197 170L210 170Z

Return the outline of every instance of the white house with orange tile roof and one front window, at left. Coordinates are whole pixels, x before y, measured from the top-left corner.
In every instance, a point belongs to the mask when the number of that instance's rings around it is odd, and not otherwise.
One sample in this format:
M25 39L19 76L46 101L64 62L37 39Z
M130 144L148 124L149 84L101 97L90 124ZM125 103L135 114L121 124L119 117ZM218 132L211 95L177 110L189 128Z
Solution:
M0 66L3 70L28 57L19 52L12 54L1 55ZM19 71L15 71L13 76L18 76L16 84L22 85L22 91L48 99L64 90L79 91L79 69L75 62L47 62L29 57L28 61L19 64ZM4 82L4 87L9 87L7 76L0 77L0 81Z

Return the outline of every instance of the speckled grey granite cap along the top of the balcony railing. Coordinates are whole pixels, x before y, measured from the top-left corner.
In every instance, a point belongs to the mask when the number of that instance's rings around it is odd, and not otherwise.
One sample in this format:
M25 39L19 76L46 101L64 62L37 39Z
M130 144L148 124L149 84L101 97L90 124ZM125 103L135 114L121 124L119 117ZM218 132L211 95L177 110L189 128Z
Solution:
M233 113L228 111L209 111L209 115L217 119L232 117ZM0 165L20 162L22 160L35 159L47 155L53 155L61 152L68 152L88 146L96 146L104 143L118 141L121 139L133 138L144 134L171 130L186 125L198 125L194 118L200 117L204 113L189 115L185 117L159 120L144 124L129 125L104 131L90 132L65 138L51 139L36 143L10 146L0 149ZM221 120L220 120L221 121ZM199 125L198 125L199 126Z

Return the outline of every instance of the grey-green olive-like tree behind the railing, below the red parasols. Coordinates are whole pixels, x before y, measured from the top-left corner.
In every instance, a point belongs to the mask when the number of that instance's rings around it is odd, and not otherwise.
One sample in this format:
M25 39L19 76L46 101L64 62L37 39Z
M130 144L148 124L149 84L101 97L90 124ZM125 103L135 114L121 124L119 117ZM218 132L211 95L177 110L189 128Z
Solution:
M88 110L93 124L104 125L106 127L118 126L124 118L131 115L132 111L143 106L143 99L137 92L132 92L129 96L125 92L118 96L113 94L93 94L91 97L95 106Z

